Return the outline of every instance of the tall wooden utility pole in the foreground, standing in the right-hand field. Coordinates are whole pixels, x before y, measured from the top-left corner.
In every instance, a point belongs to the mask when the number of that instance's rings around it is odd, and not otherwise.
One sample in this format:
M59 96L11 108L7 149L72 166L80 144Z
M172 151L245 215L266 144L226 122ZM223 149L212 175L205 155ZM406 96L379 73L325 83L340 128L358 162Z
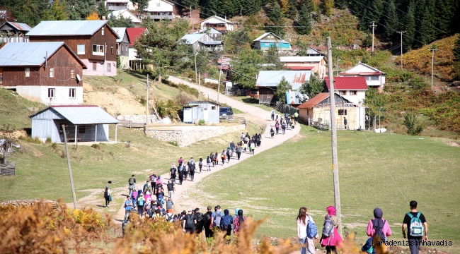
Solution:
M334 92L334 74L332 71L332 45L330 37L328 39L328 68L330 84L330 133L332 134L332 172L334 178L334 202L335 211L338 217L338 232L342 234L342 215L340 213L340 188L338 184L338 157L337 157L337 124L335 123L335 92ZM340 119L341 121L342 119Z

